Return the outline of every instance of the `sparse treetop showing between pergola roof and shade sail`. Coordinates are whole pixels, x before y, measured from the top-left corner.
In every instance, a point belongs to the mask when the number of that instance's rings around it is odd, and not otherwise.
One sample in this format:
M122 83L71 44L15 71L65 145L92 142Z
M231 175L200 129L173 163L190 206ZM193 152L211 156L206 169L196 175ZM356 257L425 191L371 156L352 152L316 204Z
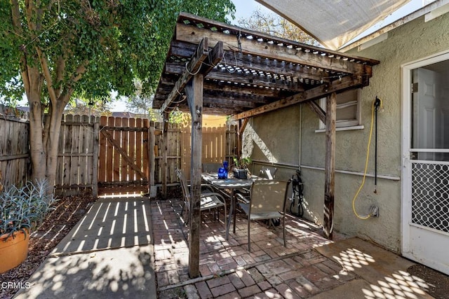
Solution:
M262 11L257 9L253 11L249 19L241 18L239 26L257 32L265 32L283 39L319 46L319 43L313 37L275 13L262 13Z

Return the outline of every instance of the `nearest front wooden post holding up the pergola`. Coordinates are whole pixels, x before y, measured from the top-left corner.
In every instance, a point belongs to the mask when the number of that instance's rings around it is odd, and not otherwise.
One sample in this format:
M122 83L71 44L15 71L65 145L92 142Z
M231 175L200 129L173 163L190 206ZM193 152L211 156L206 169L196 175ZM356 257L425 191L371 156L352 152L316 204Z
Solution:
M203 144L203 75L197 74L185 88L192 115L192 160L190 174L189 277L199 277L199 237L201 225L201 151Z

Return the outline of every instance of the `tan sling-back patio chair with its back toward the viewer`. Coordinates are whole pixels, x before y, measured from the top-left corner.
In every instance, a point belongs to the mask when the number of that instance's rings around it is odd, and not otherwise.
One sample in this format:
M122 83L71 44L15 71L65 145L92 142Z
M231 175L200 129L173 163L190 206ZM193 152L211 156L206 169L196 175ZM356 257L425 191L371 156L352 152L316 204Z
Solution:
M257 180L250 188L250 200L245 203L245 198L241 194L237 197L243 197L239 201L239 206L245 212L248 218L248 251L251 251L250 242L250 222L252 220L271 220L282 219L283 246L286 244L286 200L287 190L290 181L279 180ZM234 221L234 229L235 229Z

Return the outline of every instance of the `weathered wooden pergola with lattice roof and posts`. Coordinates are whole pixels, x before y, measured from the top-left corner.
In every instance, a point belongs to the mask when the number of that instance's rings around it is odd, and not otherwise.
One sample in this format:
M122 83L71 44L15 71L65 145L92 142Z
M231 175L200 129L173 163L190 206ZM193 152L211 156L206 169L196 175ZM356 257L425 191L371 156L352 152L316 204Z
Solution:
M239 121L241 133L253 116L294 104L309 104L311 111L326 123L323 230L332 239L335 95L367 86L372 67L378 63L180 13L153 108L161 109L164 120L173 109L189 111L192 115L190 277L199 276L201 116L204 113L232 116ZM323 97L327 99L326 111L314 101ZM164 121L165 142L167 126ZM166 157L165 151L163 173L166 173ZM165 194L166 179L163 181Z

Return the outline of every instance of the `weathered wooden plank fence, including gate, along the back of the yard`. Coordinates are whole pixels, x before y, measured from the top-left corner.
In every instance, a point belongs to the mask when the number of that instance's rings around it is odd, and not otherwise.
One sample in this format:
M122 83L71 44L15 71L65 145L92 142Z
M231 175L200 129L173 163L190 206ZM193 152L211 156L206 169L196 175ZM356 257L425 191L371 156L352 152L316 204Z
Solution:
M0 110L4 186L20 185L31 177L28 132L26 120L6 116L5 109ZM149 184L160 186L165 148L166 182L168 186L177 184L176 168L190 175L190 137L189 125L170 124L168 144L164 146L161 123L140 118L63 116L55 193L102 195L145 192ZM204 127L203 162L231 162L236 155L236 139L236 126Z

